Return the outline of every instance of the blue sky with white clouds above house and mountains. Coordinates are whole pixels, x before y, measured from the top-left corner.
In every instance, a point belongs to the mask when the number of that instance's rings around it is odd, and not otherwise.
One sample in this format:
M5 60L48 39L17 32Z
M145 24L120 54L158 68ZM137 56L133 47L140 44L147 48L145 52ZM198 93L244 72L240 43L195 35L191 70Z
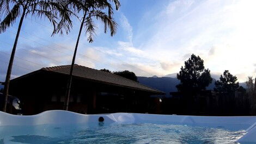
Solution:
M218 79L224 70L240 82L256 75L256 1L254 0L120 0L113 37L95 21L96 36L87 42L83 31L76 64L100 70L129 70L137 76L177 73L191 54L199 55ZM71 64L80 22L72 18L68 35L51 36L45 18L23 22L11 78L42 67ZM13 47L16 23L0 34L0 81Z

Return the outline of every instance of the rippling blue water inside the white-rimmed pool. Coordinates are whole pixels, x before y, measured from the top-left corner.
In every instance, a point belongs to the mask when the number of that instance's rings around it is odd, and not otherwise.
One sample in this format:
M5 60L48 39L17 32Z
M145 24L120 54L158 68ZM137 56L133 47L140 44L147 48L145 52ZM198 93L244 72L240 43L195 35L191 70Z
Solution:
M176 124L2 126L0 143L236 143L245 130Z

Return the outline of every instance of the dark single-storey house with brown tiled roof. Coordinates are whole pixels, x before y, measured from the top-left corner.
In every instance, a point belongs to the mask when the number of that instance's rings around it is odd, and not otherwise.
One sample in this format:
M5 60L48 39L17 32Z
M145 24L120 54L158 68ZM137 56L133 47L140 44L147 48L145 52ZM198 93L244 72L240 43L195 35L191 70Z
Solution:
M18 97L23 114L63 109L70 65L44 67L10 81L10 95ZM69 110L81 114L150 112L152 95L165 93L113 73L75 65Z

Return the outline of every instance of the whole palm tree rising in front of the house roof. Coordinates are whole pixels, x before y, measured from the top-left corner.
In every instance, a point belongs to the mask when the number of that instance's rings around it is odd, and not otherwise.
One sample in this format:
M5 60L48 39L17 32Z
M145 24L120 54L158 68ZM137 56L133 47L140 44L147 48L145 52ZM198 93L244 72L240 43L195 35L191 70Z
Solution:
M75 14L82 14L81 17L81 26L77 36L76 47L70 67L68 86L66 89L66 99L64 104L64 110L68 110L69 108L69 97L70 97L70 89L72 82L72 73L74 69L76 52L78 43L80 40L80 35L83 27L86 30L86 34L88 36L87 40L89 42L93 42L95 35L95 25L93 22L93 18L96 20L100 20L104 24L104 32L107 33L107 29L110 29L111 36L115 34L117 31L117 23L114 21L113 8L111 2L115 4L115 9L118 10L120 7L120 3L118 0L73 0L70 1L70 8L74 10ZM103 12L103 10L107 9L108 12Z

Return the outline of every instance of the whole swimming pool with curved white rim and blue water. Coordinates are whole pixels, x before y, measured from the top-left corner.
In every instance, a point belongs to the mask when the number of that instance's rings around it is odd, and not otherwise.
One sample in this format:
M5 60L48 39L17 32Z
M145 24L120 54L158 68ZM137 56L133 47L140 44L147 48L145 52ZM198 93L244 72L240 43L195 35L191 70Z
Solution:
M255 122L256 117L0 112L0 143L253 143Z

